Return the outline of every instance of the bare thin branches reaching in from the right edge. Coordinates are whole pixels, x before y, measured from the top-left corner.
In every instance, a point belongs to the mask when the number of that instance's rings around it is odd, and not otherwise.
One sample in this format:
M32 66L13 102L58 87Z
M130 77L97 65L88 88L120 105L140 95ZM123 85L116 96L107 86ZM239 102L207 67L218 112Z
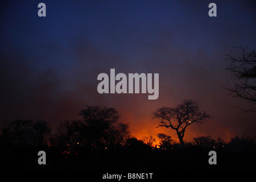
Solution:
M251 102L250 109L242 109L243 111L256 112L256 52L255 50L247 52L246 48L242 46L239 48L242 50L241 57L229 55L225 57L229 62L225 69L231 72L232 80L235 82L233 88L226 89L230 96L240 97Z

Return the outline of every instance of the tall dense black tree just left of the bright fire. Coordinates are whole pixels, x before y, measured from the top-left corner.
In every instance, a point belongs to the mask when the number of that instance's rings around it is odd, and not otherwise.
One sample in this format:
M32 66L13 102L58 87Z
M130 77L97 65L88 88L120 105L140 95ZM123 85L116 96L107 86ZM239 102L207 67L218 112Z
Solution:
M86 140L93 147L113 148L122 145L129 138L129 126L117 123L119 113L114 108L87 106L81 110L84 118Z

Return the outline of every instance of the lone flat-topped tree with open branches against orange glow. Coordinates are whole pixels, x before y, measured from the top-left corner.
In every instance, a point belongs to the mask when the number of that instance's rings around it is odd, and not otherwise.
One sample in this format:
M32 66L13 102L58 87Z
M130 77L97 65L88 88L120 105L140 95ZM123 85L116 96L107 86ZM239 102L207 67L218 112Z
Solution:
M157 127L171 127L176 131L182 147L185 146L183 141L185 131L193 123L203 123L210 118L205 111L199 111L199 106L193 100L184 100L177 107L160 107L152 114L153 119L160 119Z

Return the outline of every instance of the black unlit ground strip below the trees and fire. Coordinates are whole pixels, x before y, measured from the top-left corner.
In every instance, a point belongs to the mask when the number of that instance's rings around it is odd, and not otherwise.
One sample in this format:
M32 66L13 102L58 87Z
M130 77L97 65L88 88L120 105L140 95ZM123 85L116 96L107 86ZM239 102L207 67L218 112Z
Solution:
M38 164L38 152L46 152L46 165ZM254 150L216 149L217 164L210 165L209 149L121 148L119 150L77 150L63 154L53 147L1 147L1 169L86 170L86 171L179 171L254 170Z

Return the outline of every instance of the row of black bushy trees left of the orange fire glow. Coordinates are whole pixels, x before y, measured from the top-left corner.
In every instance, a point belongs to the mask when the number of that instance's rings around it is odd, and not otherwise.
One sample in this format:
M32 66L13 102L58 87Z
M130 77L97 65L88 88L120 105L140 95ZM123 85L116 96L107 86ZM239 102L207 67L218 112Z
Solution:
M118 123L114 108L88 106L82 121L64 121L55 134L46 121L15 120L1 129L1 144L68 148L118 148L130 138L129 125Z

